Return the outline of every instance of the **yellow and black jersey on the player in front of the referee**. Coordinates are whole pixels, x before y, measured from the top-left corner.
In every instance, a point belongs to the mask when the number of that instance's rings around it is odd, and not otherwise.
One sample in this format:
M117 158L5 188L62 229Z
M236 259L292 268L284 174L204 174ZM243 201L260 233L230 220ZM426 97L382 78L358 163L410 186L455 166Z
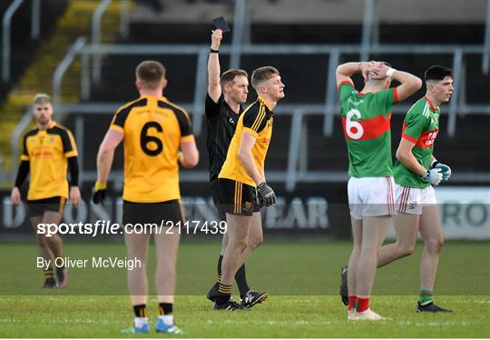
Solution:
M252 147L252 156L257 170L261 173L264 167L270 138L272 137L272 123L274 114L267 103L259 96L257 100L240 115L235 135L231 139L226 160L221 168L219 178L228 178L247 185L260 185L254 183L247 174L239 159L240 140L243 132L253 135L257 140Z

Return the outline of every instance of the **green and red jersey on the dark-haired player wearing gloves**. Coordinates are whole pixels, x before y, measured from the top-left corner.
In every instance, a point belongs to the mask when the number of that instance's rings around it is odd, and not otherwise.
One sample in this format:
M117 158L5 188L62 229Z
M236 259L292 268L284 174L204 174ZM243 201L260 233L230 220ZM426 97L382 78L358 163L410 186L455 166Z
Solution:
M417 162L426 169L430 167L434 141L439 132L439 115L441 115L439 107L434 107L424 96L410 107L403 122L402 138L415 144L412 154L416 157ZM430 185L399 161L395 163L394 173L397 185L420 188Z

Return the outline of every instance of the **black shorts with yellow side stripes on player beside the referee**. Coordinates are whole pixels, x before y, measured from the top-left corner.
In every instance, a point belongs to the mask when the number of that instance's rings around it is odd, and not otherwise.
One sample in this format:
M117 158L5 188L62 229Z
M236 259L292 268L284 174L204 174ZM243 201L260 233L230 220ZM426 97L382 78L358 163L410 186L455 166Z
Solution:
M260 212L255 186L246 185L228 178L218 179L220 205L225 213L251 216Z

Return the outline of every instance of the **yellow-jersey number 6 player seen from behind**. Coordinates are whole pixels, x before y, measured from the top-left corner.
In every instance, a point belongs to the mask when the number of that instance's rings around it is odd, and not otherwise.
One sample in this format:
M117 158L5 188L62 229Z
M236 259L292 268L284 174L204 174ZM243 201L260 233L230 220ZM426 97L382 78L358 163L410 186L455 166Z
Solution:
M167 85L165 68L155 61L144 61L136 68L136 87L140 97L123 105L114 115L109 131L103 139L97 155L97 183L93 203L98 204L105 196L106 182L111 171L115 148L124 145L124 186L122 223L175 225L183 222L179 165L197 165L199 153L191 132L191 120L187 112L172 104L163 96ZM176 284L177 252L180 235L166 234L162 228L144 234L124 235L129 258L146 262L150 237L153 235L157 251L157 294L160 315L157 332L181 333L173 323L173 294ZM148 280L145 266L128 272L128 285L134 310L130 333L147 333L146 310Z

